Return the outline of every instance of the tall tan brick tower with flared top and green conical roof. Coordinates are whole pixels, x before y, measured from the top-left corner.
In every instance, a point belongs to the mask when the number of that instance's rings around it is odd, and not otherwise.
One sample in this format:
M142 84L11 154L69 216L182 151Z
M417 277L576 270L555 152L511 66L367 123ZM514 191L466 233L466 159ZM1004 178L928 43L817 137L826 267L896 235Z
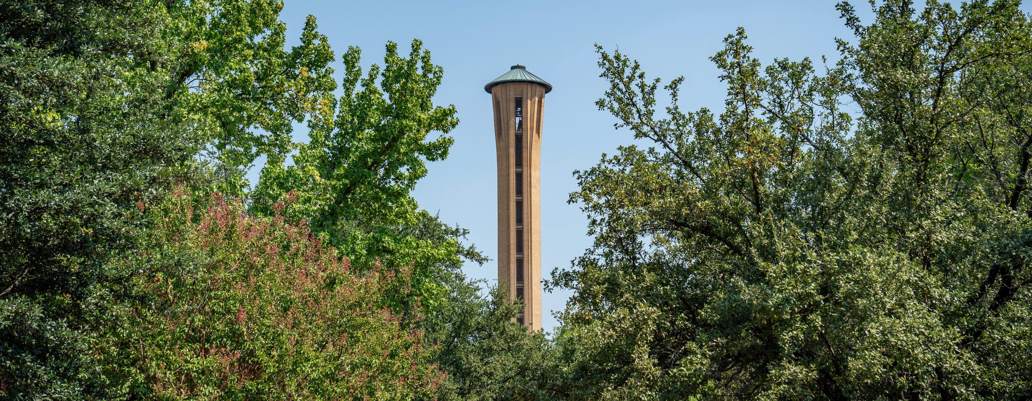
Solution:
M514 65L487 82L498 165L498 282L522 299L516 319L541 329L541 118L552 86Z

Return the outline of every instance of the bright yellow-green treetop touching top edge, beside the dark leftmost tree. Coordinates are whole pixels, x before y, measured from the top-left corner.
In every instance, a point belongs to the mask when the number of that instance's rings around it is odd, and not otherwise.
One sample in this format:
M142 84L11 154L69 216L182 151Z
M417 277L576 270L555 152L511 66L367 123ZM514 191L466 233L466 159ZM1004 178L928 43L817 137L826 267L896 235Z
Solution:
M231 167L250 166L260 155L282 158L293 148L292 123L328 112L334 56L314 16L288 52L282 1L171 4L163 32L168 49L140 56L165 76L165 97L184 120L204 129L214 158Z

